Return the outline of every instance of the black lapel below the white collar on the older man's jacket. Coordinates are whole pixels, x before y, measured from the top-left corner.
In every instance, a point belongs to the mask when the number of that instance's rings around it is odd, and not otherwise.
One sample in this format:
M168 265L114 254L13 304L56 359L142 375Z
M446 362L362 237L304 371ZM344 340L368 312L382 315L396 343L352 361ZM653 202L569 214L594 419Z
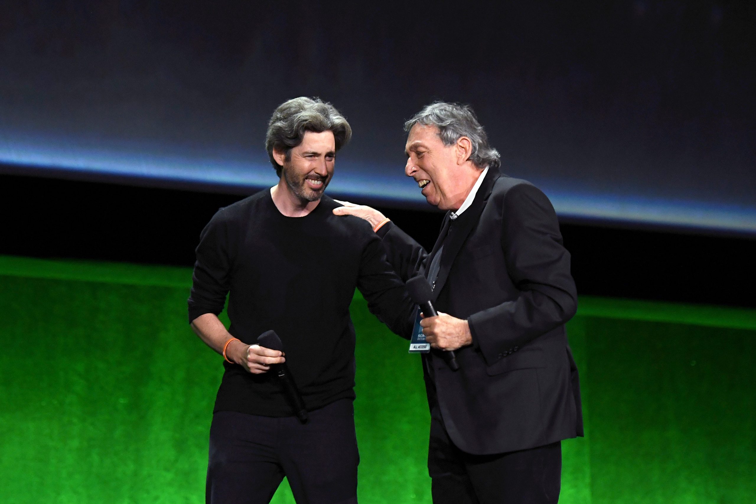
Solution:
M441 263L439 264L438 277L436 277L435 280L435 289L433 289L436 297L438 297L438 292L441 292L444 288L446 279L449 276L449 271L451 270L451 265L454 263L454 259L457 258L457 254L460 253L460 249L462 249L467 236L470 231L472 231L472 228L478 223L483 208L485 207L485 203L488 201L488 196L491 196L491 191L494 189L494 182L499 176L500 173L497 169L488 169L485 179L483 179L478 188L478 193L476 193L475 199L472 200L472 205L462 212L462 215L457 217L454 224L451 224L449 236L443 242L444 249L441 251ZM451 222L449 215L450 214L447 215L448 223ZM447 227L449 225L448 223L446 224ZM434 252L438 251L438 247L441 245L439 242L442 241L443 236L444 234L442 233L438 237L438 240L433 247Z

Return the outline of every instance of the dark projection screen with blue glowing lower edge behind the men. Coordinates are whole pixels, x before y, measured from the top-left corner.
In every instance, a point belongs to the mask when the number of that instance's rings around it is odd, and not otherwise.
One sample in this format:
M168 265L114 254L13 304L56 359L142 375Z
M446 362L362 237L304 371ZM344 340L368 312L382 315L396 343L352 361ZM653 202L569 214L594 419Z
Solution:
M359 3L5 9L0 170L253 190L307 95L354 129L330 194L423 207L402 125L441 99L562 217L756 233L752 3Z

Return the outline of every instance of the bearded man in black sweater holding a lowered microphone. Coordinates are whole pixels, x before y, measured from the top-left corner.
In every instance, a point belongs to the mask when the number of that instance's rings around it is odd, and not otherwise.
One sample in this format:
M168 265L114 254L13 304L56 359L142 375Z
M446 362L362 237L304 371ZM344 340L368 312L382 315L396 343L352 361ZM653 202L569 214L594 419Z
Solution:
M339 204L324 196L351 135L330 104L281 104L265 142L279 183L220 209L201 234L189 320L225 357L207 502L269 502L284 475L297 502L357 502L349 303L360 289L370 311L405 337L414 305L370 224L336 217ZM227 330L218 314L229 292ZM255 344L269 329L285 355ZM284 361L309 412L304 424L268 373Z

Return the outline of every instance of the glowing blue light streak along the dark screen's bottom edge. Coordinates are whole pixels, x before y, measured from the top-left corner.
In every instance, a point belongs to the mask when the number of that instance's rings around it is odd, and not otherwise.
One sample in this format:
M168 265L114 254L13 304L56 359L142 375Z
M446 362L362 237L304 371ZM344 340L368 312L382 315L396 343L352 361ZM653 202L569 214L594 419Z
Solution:
M200 187L248 188L249 192L277 183L267 162L246 162L239 153L214 156L175 156L133 151L117 152L60 145L49 147L0 145L0 163L49 171L50 176L75 172L86 178L110 176L120 180L160 181ZM649 224L694 230L721 230L756 235L756 206L744 207L696 201L674 201L643 196L580 193L563 190L553 181L538 181L556 212L564 218ZM420 207L425 198L417 184L404 177L401 167L386 174L385 167L339 162L328 187L342 198L372 199L394 205Z

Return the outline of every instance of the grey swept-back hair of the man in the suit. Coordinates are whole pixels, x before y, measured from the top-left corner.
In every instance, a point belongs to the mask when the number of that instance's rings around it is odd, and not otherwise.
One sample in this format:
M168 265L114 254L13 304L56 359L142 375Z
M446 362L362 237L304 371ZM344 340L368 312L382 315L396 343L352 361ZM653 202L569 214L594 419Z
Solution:
M438 137L446 146L454 145L462 137L469 138L472 144L469 159L478 168L501 165L499 151L488 145L485 129L469 105L434 101L405 122L404 131L409 132L416 124L438 128Z

